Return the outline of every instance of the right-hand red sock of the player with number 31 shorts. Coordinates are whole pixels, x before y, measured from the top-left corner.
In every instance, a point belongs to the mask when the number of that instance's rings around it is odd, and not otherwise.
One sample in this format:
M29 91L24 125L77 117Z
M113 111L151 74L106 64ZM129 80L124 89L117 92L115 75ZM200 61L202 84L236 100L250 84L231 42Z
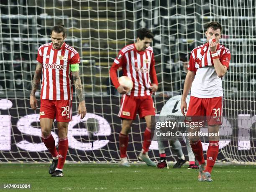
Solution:
M219 152L219 141L210 141L207 150L207 163L205 172L212 172L212 168L215 164Z

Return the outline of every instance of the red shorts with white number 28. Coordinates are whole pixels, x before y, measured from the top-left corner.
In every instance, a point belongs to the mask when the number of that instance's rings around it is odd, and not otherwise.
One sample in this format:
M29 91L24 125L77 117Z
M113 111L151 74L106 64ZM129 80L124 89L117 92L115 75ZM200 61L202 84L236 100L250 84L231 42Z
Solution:
M72 121L72 100L41 99L40 119L56 119L58 122Z

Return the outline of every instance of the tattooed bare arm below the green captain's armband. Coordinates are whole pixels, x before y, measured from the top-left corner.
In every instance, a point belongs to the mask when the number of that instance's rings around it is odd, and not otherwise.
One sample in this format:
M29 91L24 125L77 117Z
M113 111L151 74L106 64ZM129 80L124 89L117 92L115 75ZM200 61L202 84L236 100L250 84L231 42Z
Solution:
M83 87L82 87L81 79L79 76L79 71L72 71L72 76L74 79L74 86L77 93L77 97L79 99L78 114L81 114L80 118L83 119L86 114L86 107L85 107Z

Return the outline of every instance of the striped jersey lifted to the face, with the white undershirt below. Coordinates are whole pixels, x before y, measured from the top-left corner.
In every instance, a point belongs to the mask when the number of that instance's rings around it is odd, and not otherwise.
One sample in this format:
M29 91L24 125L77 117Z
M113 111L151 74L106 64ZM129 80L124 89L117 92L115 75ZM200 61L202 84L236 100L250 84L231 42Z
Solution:
M223 96L221 78L215 71L208 43L194 48L191 52L188 70L195 72L191 86L191 96L212 98ZM217 53L223 66L229 67L231 54L228 48L217 45Z

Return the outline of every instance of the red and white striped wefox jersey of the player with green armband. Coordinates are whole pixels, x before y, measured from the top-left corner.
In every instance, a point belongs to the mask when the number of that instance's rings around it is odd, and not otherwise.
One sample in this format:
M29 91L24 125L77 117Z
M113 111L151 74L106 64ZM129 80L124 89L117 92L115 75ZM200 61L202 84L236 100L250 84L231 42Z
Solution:
M43 65L41 99L72 99L71 64L80 63L79 53L64 43L54 49L52 43L38 48L36 60Z

